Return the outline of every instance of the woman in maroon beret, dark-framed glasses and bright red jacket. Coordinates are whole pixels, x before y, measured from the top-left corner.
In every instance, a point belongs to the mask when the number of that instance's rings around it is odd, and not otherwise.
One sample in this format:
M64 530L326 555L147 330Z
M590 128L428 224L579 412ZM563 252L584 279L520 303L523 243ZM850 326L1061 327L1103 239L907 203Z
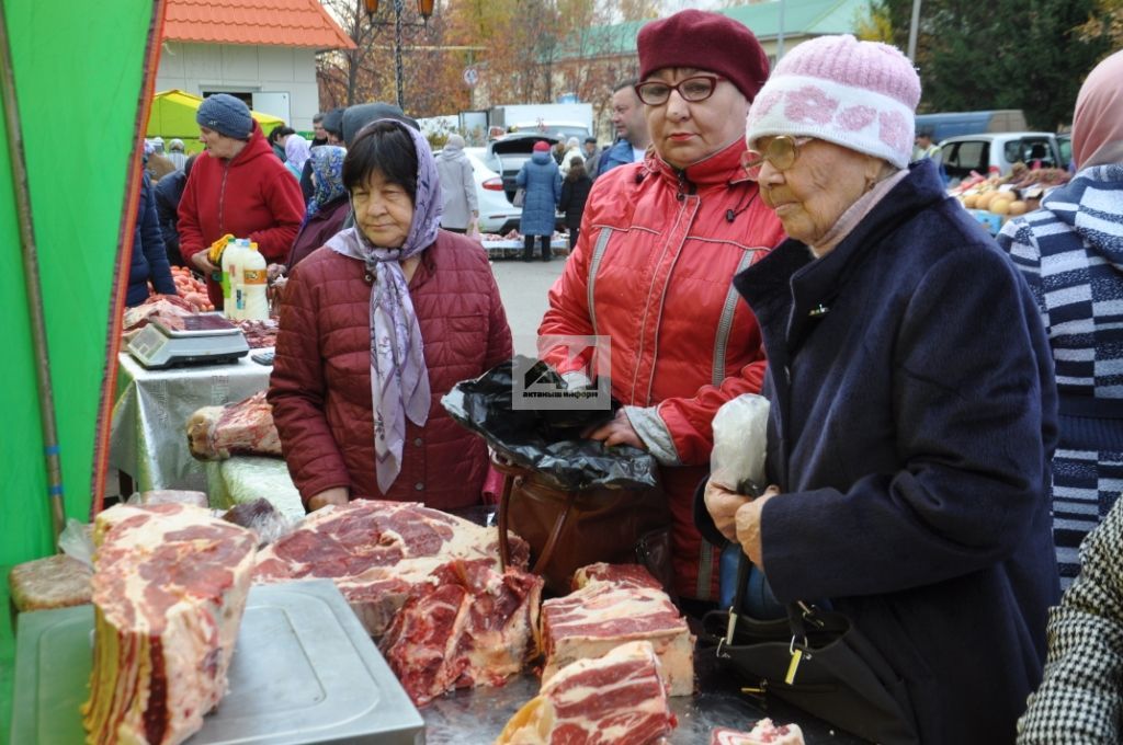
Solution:
M732 279L783 237L741 167L745 117L768 58L743 25L699 10L648 24L638 45L636 91L652 149L597 178L538 332L610 338L612 395L624 406L592 436L658 460L676 590L709 600L716 554L694 527L692 495L710 462L714 413L759 392L765 369ZM582 383L574 372L584 360L547 359Z

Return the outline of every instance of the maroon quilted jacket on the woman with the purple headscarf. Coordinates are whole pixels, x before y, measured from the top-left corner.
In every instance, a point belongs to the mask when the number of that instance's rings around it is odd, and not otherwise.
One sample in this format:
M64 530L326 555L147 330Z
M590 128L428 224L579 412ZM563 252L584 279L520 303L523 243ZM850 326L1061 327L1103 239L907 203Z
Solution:
M281 305L268 401L289 472L308 504L332 487L359 497L423 502L438 509L481 503L482 438L440 405L454 384L511 358L511 330L487 256L440 231L410 279L432 404L423 427L407 421L402 470L390 493L375 478L371 403L371 283L357 259L320 248L292 273Z

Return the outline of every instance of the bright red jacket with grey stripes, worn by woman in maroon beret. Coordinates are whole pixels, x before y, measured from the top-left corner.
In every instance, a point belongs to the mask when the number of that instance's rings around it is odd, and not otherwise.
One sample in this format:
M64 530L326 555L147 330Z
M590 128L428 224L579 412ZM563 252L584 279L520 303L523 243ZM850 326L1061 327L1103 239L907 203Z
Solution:
M738 140L685 172L649 154L597 178L538 329L610 338L612 395L636 407L629 420L663 466L677 591L688 598L716 592L718 557L692 509L711 421L727 401L759 393L765 371L760 331L732 278L784 234L740 166L745 149ZM563 372L581 365L547 359Z

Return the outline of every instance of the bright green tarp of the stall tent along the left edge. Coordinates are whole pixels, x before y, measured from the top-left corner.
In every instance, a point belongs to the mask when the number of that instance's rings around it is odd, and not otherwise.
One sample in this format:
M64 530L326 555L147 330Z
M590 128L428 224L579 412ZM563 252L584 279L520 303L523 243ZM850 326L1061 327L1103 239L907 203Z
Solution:
M159 0L2 0L38 243L66 513L89 519L113 268ZM155 52L155 47L152 47ZM154 70L154 67L153 67ZM10 137L0 118L0 142ZM0 147L0 744L11 720L8 569L53 552L35 356L7 145ZM135 203L135 194L131 195Z

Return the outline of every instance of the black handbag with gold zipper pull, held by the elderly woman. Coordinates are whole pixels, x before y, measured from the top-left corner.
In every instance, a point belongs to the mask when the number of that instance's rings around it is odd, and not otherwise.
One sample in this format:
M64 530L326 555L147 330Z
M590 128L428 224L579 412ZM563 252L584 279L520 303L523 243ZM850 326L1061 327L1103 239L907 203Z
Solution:
M742 555L739 574L748 565ZM787 618L751 618L736 611L745 586L742 578L730 610L706 614L703 635L747 692L776 696L882 745L917 742L904 682L846 615L794 603Z

